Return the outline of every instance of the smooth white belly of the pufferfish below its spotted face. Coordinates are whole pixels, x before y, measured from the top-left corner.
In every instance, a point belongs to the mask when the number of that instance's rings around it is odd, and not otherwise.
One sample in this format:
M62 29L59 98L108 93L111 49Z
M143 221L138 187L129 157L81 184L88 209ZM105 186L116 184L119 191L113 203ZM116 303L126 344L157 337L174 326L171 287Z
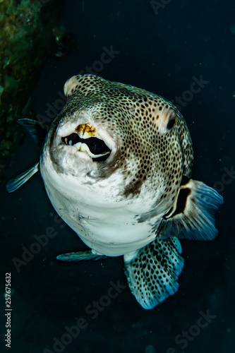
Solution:
M108 198L104 201L93 193L92 186L80 189L74 177L58 176L42 162L40 171L54 209L90 249L107 256L121 256L155 239L153 220L138 223L136 217L146 211L144 205L128 205Z

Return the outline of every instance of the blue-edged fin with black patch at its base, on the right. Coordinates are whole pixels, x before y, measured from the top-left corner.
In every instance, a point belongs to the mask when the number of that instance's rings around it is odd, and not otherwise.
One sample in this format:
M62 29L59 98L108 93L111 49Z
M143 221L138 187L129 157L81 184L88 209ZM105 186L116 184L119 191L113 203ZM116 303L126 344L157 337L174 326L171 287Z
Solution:
M223 198L215 189L201 181L184 179L174 207L164 215L159 239L212 240L217 234L215 211Z

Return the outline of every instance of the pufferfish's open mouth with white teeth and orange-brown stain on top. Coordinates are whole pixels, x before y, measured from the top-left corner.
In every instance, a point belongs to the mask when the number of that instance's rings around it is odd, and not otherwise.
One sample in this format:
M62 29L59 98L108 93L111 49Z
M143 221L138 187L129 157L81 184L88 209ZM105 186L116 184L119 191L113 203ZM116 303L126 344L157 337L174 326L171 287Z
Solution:
M112 152L90 123L78 125L73 133L61 137L61 141L86 152L93 162L104 162Z

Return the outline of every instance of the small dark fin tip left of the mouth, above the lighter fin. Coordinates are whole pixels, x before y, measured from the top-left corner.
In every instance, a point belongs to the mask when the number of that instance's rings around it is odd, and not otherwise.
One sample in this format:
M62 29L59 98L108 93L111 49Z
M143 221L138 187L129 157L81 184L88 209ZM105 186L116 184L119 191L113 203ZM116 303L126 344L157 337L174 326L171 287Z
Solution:
M17 122L25 128L37 145L41 147L47 135L47 129L43 128L39 121L28 118L18 119Z

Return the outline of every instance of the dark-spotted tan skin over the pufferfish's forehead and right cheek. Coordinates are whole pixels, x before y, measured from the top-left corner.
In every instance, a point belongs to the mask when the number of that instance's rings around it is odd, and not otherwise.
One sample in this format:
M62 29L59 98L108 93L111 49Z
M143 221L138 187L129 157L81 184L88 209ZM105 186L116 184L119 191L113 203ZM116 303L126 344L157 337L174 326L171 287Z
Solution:
M68 101L53 122L48 143L52 145L59 122L63 124L71 115L85 110L105 124L118 143L114 161L100 163L100 177L119 168L123 173L124 198L135 196L145 184L147 188L164 191L155 202L159 205L164 201L166 205L168 201L169 208L182 176L191 176L193 162L191 137L176 107L159 95L90 74L74 76L68 83ZM178 118L170 131L166 127L169 116ZM51 157L58 162L52 150Z

